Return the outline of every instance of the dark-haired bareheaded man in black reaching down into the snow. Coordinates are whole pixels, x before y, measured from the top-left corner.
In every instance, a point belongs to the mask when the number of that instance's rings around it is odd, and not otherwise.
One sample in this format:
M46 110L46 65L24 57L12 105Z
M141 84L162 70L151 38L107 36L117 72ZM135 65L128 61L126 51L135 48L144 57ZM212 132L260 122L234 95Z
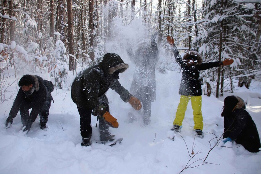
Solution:
M37 115L40 115L40 128L45 129L48 121L49 109L51 107L53 84L47 80L43 80L37 75L24 75L20 79L18 86L20 87L14 104L11 108L9 116L6 119L6 127L10 127L20 111L21 122L25 128L23 131L27 133L31 129L32 123L35 122ZM29 109L32 111L29 116Z

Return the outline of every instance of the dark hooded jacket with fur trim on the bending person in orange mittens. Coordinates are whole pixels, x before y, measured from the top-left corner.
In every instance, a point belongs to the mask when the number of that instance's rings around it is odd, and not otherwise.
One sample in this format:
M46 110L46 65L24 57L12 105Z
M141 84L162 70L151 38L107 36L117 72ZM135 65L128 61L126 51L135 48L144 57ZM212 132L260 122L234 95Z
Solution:
M94 109L99 104L99 97L111 88L124 102L128 102L132 95L121 86L118 79L112 77L115 71L123 72L127 68L128 64L119 55L105 54L100 63L79 72L71 85L71 99L78 105Z

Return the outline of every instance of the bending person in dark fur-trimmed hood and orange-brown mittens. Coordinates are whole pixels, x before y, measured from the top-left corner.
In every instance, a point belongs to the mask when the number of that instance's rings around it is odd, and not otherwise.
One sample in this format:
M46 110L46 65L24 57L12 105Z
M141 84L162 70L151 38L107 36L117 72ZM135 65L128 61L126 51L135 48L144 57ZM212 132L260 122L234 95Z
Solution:
M71 99L77 105L80 114L82 146L91 145L91 115L99 120L100 140L113 141L109 127L118 127L117 119L109 114L108 98L105 92L109 88L116 91L124 102L129 102L134 109L141 109L141 102L121 86L119 73L128 68L119 55L107 53L102 61L76 75L71 85ZM96 125L97 126L97 125Z

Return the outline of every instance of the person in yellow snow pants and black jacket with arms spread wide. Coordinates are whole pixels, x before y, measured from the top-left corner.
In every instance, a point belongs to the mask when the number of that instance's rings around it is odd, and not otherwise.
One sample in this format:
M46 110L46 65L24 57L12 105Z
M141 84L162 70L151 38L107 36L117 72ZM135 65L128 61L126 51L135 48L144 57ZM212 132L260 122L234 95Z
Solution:
M188 51L183 59L181 58L177 47L174 44L174 39L170 36L167 37L167 41L173 47L172 51L176 58L177 63L181 66L182 78L179 88L180 103L177 107L176 118L173 121L173 128L179 131L182 125L182 121L185 116L185 111L189 100L191 99L191 106L194 116L194 129L197 135L202 135L203 129L203 117L201 112L202 104L202 89L199 80L199 73L201 70L206 70L213 67L219 67L221 65L230 65L234 62L232 59L226 59L223 62L209 62L202 63L202 57L197 51Z

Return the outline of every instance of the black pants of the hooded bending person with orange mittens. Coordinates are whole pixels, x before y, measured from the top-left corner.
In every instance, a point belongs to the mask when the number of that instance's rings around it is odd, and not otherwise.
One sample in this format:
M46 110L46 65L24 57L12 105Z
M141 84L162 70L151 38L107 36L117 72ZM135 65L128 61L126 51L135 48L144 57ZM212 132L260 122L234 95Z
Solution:
M102 95L99 98L99 105L104 105L106 107L106 111L110 112L109 110L109 102L106 95ZM82 138L91 138L92 136L92 126L91 126L91 116L92 116L92 109L88 109L86 105L76 104L78 112L80 114L80 131ZM109 125L104 122L103 119L99 118L99 129L100 130L108 130Z

